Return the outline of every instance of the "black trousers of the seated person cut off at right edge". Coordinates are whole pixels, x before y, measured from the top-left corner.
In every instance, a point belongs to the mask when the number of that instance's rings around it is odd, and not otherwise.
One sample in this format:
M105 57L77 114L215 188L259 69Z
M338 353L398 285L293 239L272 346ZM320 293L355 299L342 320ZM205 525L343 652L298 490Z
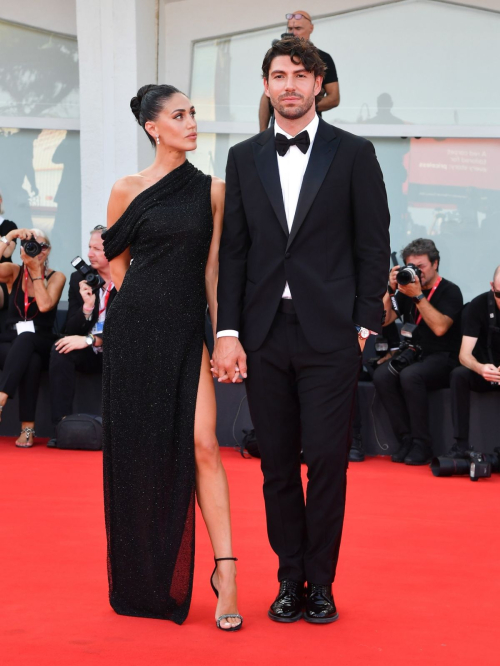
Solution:
M500 391L498 384L490 384L477 372L461 365L455 368L450 378L451 413L453 417L453 435L464 445L469 443L470 392L490 393ZM467 443L467 444L466 444Z

